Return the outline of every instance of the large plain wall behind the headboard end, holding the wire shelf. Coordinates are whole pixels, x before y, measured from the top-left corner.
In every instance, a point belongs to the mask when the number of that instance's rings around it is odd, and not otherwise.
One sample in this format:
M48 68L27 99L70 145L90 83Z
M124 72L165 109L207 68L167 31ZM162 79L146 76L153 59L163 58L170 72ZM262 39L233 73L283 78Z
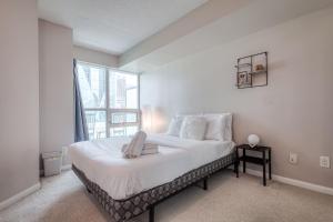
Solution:
M258 133L273 148L273 173L333 188L333 168L319 165L320 155L333 158L332 23L329 8L159 67L141 75L141 104L165 122L178 112L233 112L236 142ZM206 40L216 33L205 29ZM236 89L238 57L261 51L269 85ZM299 164L287 162L290 151Z

